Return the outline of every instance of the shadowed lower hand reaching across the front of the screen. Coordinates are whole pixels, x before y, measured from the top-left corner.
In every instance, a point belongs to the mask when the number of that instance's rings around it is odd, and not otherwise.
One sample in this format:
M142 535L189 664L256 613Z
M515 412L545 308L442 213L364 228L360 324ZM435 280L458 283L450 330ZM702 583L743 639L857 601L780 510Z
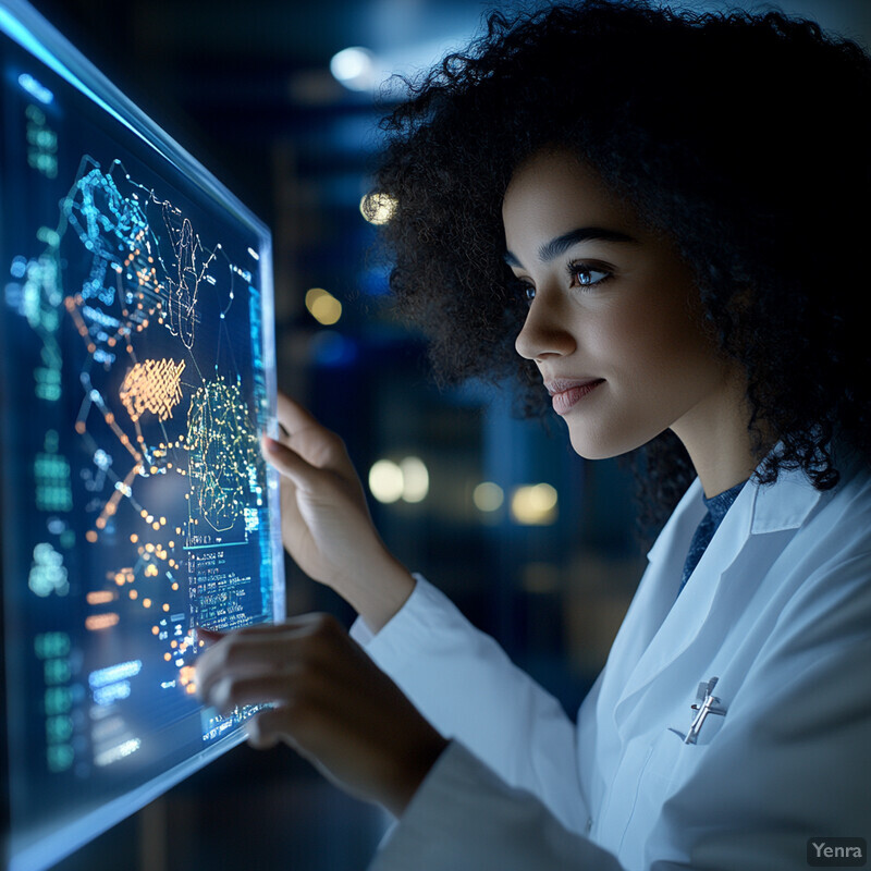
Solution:
M255 747L284 741L340 787L401 815L446 746L398 687L328 614L223 635L197 660L199 698L247 723Z

